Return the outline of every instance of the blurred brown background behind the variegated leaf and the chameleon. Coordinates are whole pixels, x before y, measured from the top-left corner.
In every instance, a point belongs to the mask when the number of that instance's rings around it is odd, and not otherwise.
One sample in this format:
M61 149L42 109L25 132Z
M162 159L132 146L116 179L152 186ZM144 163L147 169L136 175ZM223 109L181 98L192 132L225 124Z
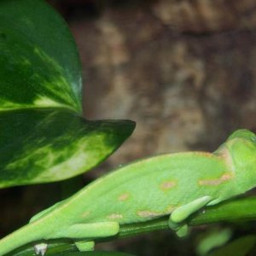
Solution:
M87 178L151 154L212 151L237 128L256 131L255 1L49 3L67 20L79 47L84 116L137 122L131 138ZM44 207L53 190L53 184L13 190L20 214L10 215L9 202L3 233ZM170 233L102 247L138 255L193 255L195 238L184 243Z

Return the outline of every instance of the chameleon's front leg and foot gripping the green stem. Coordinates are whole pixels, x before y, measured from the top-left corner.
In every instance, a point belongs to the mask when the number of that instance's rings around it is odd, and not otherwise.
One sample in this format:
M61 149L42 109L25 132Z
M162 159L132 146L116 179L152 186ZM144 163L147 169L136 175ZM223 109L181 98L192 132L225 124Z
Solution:
M212 196L206 195L201 198L191 201L182 207L177 207L170 215L168 225L170 229L175 230L177 236L186 236L188 233L188 225L182 224L192 213L197 212L202 207L207 206L207 204L212 201Z

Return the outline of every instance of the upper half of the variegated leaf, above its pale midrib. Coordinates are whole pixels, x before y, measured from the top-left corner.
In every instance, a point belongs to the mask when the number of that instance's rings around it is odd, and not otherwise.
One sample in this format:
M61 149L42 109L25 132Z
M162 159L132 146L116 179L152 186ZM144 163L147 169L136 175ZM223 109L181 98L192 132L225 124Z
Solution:
M43 1L0 1L0 81L0 109L80 112L76 46L61 16Z

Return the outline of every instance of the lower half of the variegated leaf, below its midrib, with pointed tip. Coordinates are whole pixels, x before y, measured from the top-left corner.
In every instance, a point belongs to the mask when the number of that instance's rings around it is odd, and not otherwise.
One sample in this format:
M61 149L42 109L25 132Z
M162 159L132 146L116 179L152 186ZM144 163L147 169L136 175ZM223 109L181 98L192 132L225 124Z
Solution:
M90 170L131 134L131 121L88 121L61 109L0 112L0 188Z

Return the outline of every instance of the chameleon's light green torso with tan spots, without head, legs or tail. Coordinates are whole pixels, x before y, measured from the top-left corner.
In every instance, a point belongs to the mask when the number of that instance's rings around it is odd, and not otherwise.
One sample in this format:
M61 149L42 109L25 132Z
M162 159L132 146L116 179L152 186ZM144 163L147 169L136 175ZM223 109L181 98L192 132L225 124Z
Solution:
M234 178L225 161L214 154L163 154L90 183L61 207L73 209L68 218L79 223L146 221L202 195L218 198Z

